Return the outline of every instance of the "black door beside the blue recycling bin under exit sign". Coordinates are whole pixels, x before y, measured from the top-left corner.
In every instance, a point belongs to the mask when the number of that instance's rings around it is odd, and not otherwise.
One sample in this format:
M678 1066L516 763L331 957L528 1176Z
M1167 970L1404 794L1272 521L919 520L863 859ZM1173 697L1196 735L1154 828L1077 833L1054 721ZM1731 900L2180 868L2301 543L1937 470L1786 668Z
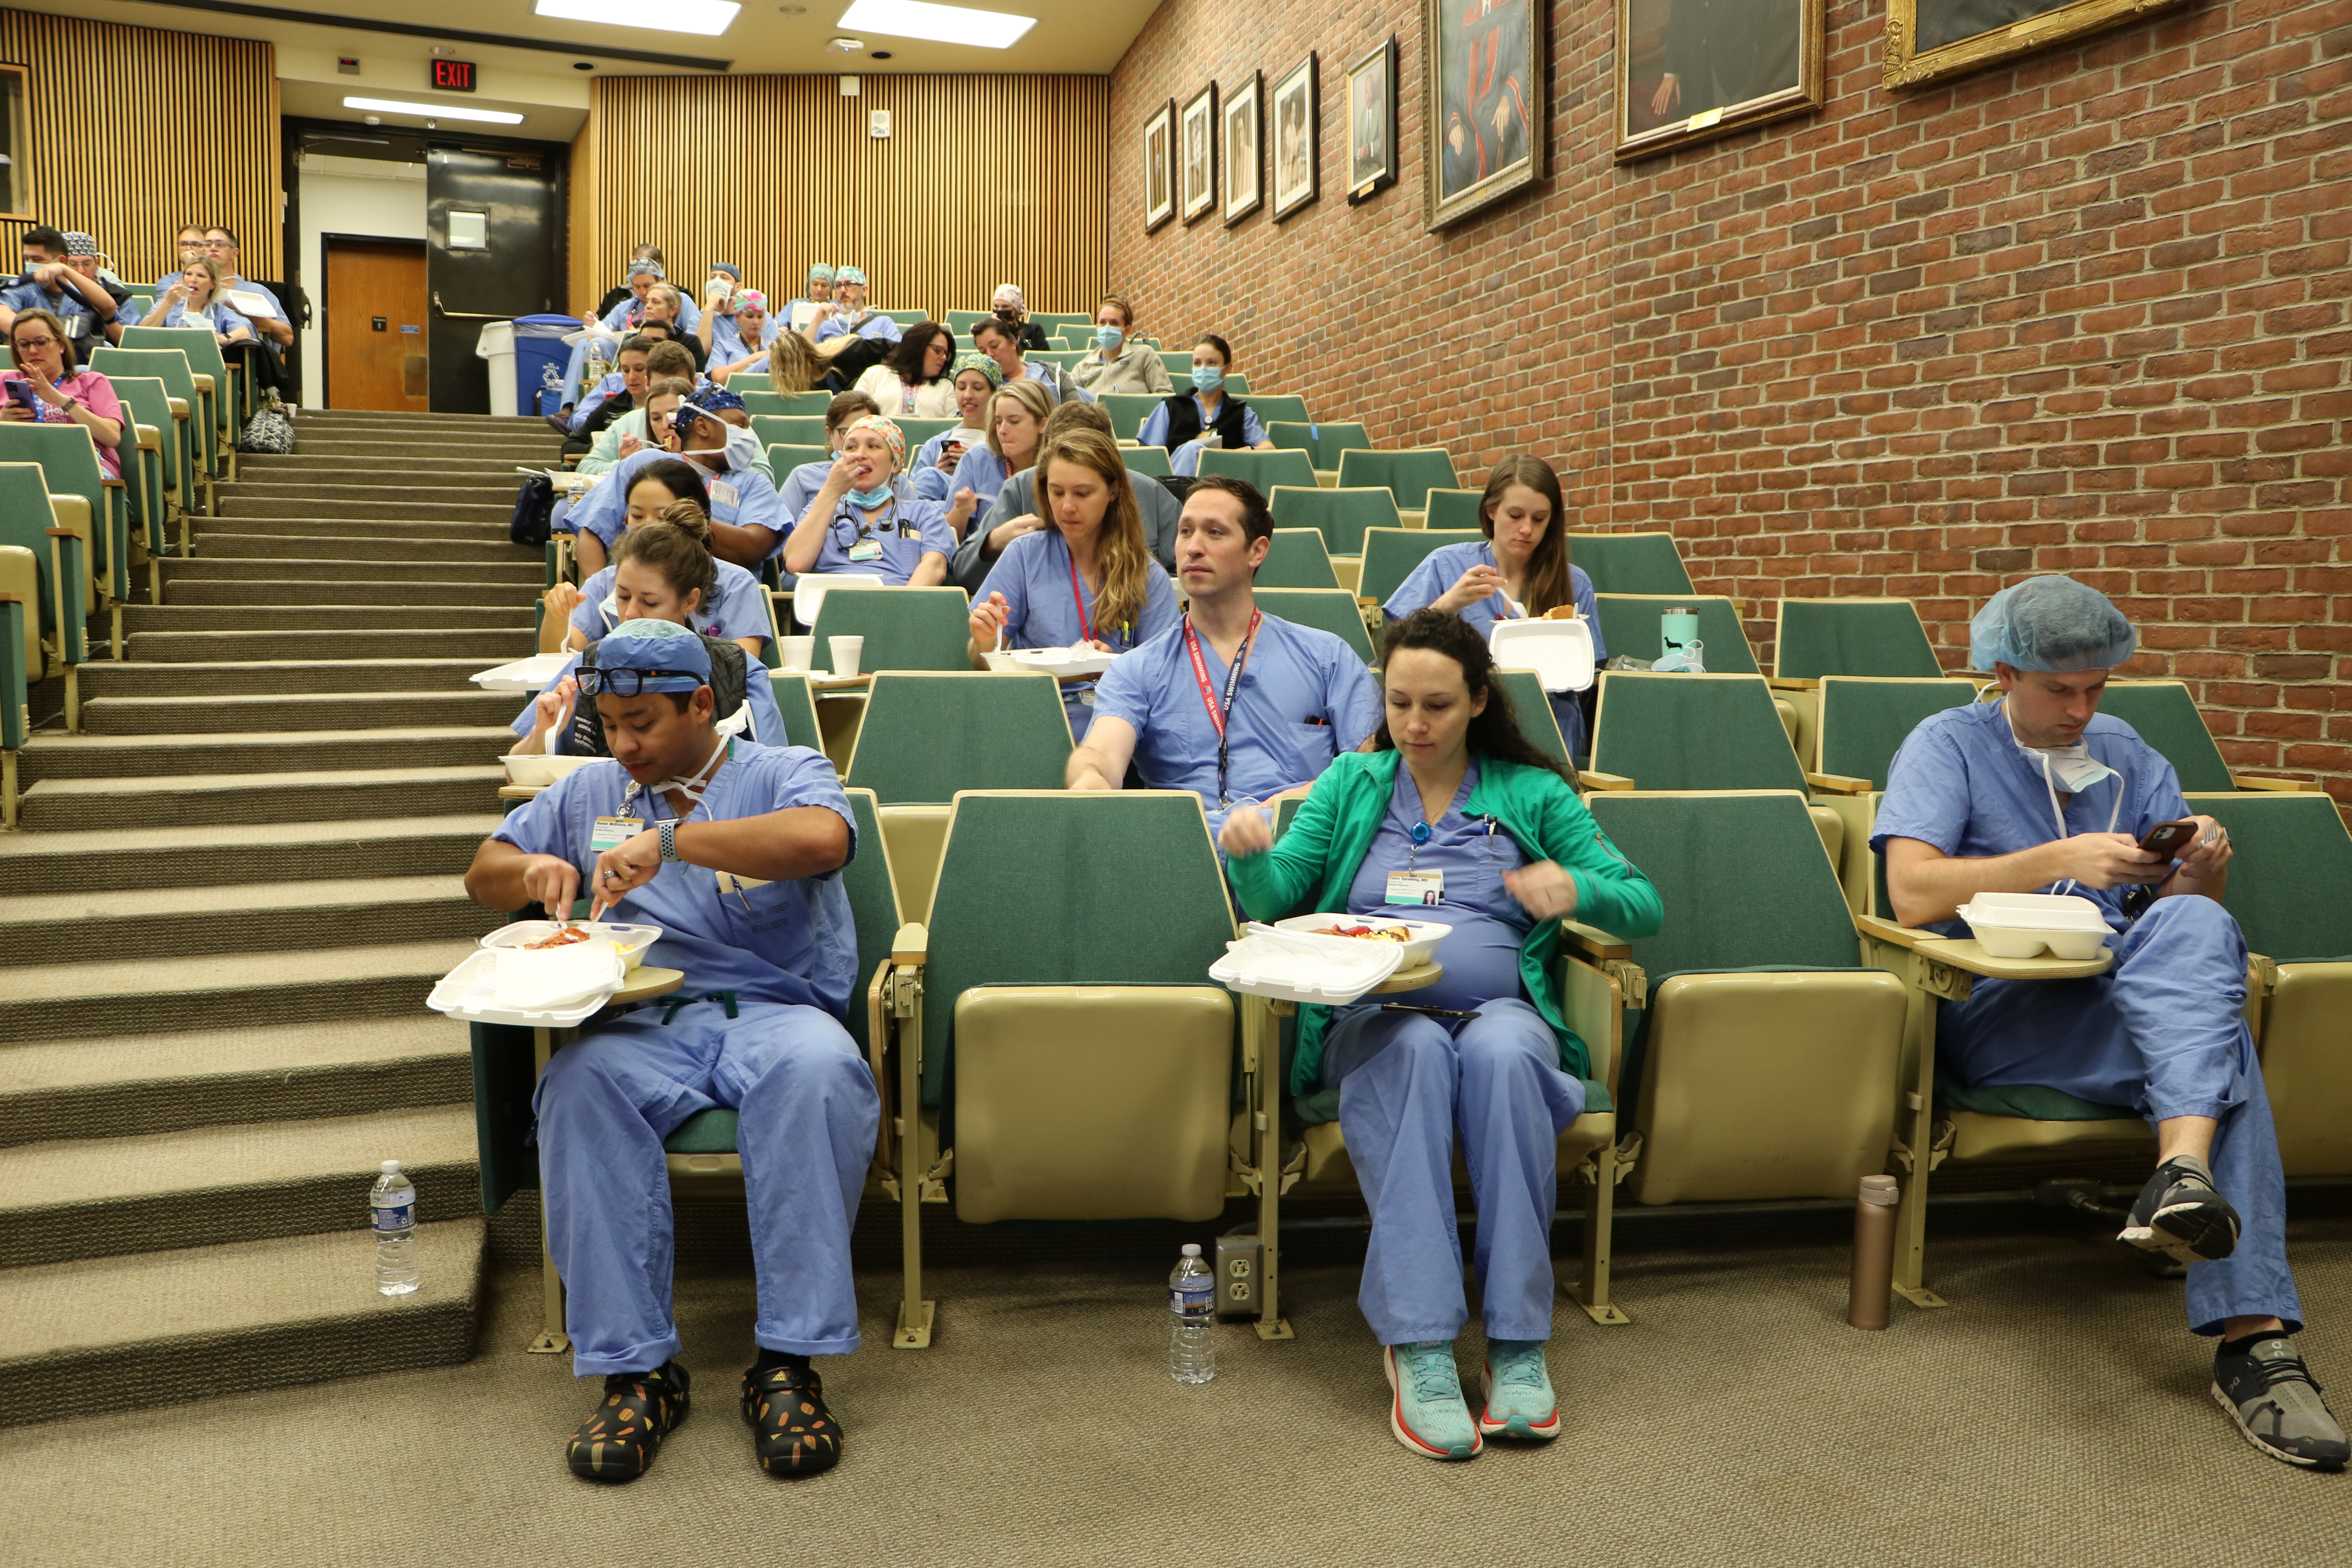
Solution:
M560 308L560 150L426 155L435 414L489 414L489 362L475 355L482 322Z

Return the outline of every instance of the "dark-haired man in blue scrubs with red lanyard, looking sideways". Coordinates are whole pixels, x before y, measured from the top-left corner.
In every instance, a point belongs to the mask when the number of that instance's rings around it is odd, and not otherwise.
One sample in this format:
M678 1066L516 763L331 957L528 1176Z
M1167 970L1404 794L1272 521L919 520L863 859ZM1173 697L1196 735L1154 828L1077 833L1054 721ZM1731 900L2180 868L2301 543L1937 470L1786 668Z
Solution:
M1381 691L1341 637L1268 616L1249 590L1275 538L1254 484L1209 477L1176 520L1185 621L1110 665L1073 790L1192 790L1209 832L1237 804L1305 790L1381 729Z

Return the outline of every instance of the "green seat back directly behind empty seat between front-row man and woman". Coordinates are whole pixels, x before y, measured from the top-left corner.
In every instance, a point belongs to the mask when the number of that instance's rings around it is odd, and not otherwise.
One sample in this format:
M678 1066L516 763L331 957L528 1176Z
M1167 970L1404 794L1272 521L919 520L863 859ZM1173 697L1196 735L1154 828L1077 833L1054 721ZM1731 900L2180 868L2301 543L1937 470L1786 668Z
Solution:
M1051 675L882 672L849 783L887 806L943 806L960 790L1058 790L1068 762L1070 717Z

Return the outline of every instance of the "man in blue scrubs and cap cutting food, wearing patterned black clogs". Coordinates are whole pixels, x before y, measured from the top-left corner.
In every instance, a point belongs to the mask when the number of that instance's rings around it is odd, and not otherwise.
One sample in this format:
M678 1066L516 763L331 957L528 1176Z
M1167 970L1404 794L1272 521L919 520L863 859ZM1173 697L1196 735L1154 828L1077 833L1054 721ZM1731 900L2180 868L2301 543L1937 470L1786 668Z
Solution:
M508 816L466 872L492 910L569 914L586 893L590 912L661 926L644 961L684 971L666 1001L590 1023L532 1098L572 1371L604 1380L564 1458L579 1476L633 1481L687 1413L661 1140L727 1107L760 1291L741 1389L753 1453L769 1474L816 1474L840 1462L842 1429L809 1356L858 1347L849 1227L882 1114L842 1027L858 947L840 870L856 818L823 752L713 729L701 637L633 623L604 639L595 675L612 759Z

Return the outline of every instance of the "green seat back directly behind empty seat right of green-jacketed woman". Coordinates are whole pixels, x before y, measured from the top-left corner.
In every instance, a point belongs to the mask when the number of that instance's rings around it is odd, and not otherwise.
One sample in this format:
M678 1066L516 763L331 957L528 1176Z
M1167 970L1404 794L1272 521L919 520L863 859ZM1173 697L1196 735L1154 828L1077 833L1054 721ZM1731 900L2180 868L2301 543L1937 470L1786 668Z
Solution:
M1602 672L1592 766L1637 790L1806 788L1762 675Z

